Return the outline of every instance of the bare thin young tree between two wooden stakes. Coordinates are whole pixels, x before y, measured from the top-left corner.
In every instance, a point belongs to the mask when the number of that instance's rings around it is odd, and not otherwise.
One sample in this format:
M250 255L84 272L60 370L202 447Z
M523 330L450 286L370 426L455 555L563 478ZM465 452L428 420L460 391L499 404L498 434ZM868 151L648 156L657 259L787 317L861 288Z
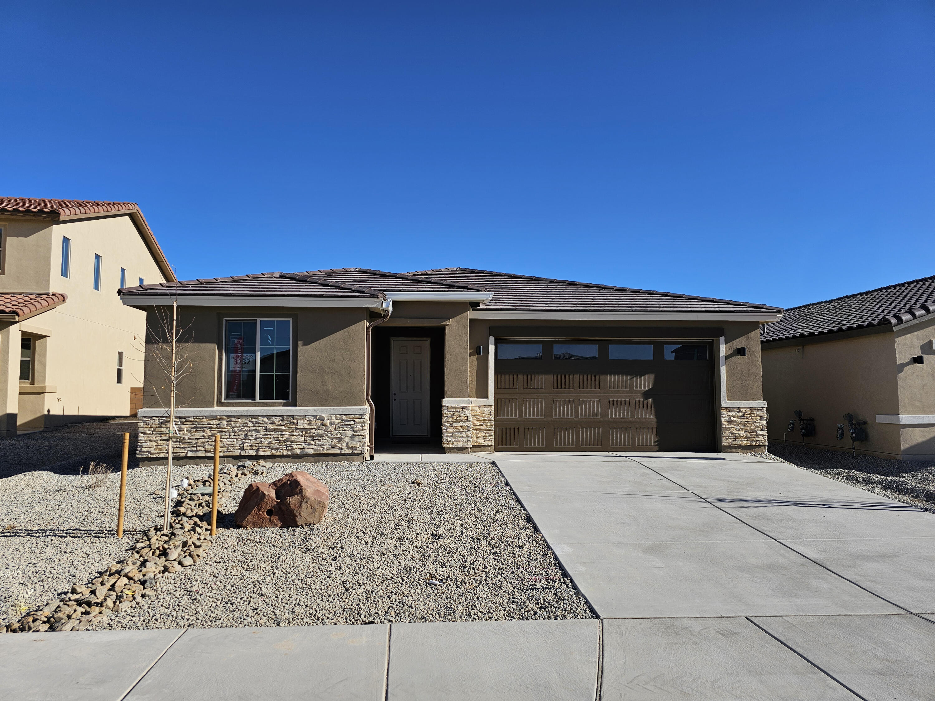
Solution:
M179 384L182 379L192 375L194 370L192 361L189 359L191 342L183 339L189 330L189 326L184 328L180 326L178 300L172 302L171 316L169 316L167 309L162 307L156 307L155 314L155 328L147 323L148 345L150 345L150 348L147 350L146 356L158 367L159 376L165 380L163 387L157 388L152 385L151 389L153 394L159 398L163 408L168 409L169 414L168 449L166 451L168 462L165 469L165 513L163 516L163 531L167 531L171 508L169 492L172 489L173 443L175 436L180 433L175 422L175 412L176 408L183 406L179 401ZM165 406L166 399L168 400L168 407Z

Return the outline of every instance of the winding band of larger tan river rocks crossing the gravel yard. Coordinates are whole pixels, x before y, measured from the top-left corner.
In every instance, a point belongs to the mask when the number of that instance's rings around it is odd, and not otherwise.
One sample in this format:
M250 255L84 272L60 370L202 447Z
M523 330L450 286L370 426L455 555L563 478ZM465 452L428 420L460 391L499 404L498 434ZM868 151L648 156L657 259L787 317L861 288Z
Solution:
M218 481L218 502L238 481L265 474L263 461L225 467ZM196 565L212 545L211 494L196 494L199 488L211 486L210 478L190 479L172 509L168 533L151 528L125 560L108 565L87 584L73 584L68 594L0 627L0 633L85 630L110 613L155 596L160 578Z

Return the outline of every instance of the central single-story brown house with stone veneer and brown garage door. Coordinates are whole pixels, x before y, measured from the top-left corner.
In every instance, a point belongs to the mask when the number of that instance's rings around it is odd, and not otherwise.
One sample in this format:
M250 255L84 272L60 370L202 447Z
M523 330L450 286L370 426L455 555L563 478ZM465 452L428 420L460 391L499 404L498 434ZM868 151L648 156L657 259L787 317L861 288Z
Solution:
M190 374L182 462L445 451L763 451L766 305L465 268L262 273L125 288L149 319L137 455L165 460L165 310Z

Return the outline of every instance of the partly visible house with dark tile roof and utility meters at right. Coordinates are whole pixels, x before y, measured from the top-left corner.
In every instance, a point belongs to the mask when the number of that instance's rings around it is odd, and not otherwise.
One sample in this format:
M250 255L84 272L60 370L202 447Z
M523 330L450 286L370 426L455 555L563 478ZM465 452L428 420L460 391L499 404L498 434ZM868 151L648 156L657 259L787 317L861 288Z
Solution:
M844 414L866 440L856 451L935 460L935 276L786 309L761 332L770 440L852 450ZM838 424L844 425L839 439Z

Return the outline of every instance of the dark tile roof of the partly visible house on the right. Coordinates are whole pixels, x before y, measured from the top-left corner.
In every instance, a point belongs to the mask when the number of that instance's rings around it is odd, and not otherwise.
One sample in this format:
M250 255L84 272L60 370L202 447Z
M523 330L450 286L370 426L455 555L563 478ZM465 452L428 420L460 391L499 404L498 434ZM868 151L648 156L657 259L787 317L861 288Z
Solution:
M900 323L935 311L935 276L786 309L780 322L763 327L764 342L821 336Z

